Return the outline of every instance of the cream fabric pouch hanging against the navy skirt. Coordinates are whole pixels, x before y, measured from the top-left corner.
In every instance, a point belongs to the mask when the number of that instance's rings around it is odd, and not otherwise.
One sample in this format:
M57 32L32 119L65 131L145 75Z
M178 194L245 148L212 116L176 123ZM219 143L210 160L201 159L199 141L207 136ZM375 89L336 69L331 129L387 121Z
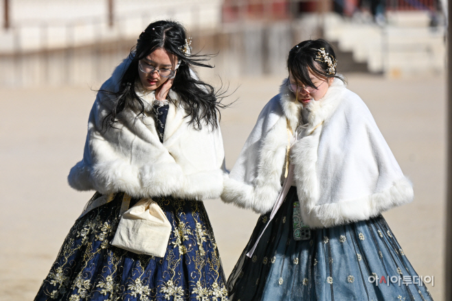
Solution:
M168 247L171 224L151 198L139 200L122 215L111 245L134 252L163 257Z

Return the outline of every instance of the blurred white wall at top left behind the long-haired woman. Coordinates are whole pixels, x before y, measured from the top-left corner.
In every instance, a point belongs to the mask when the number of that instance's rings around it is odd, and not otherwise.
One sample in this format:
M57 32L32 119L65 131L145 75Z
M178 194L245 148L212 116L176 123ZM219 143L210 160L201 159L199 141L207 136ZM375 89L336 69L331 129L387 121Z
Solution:
M112 28L108 25L106 0L10 0L12 28L0 30L0 53L134 38L158 19L176 19L189 31L214 29L221 25L222 3L222 0L114 0ZM3 16L3 11L0 14Z

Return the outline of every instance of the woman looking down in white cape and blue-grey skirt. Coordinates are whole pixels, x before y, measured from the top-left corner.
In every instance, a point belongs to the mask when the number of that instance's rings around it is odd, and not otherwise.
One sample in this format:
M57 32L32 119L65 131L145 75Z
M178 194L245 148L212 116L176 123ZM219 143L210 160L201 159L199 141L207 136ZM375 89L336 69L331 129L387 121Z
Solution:
M431 300L381 215L411 182L336 64L325 40L291 49L225 180L225 202L261 214L230 300Z

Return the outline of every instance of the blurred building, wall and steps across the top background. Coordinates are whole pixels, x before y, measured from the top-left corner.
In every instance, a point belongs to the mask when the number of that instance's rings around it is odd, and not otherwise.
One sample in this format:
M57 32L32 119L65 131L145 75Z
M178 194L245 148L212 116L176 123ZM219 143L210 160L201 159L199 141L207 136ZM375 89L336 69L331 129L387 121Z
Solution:
M227 77L284 73L306 38L339 71L443 73L446 0L1 0L0 85L101 82L157 19L177 19Z

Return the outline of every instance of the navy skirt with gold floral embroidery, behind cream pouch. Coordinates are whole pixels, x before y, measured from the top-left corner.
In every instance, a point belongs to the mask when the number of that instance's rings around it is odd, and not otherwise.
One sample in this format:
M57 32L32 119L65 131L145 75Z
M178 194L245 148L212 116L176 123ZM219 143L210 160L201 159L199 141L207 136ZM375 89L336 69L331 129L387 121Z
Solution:
M77 219L34 300L227 300L203 202L154 199L172 224L166 254L159 258L109 244L123 195L116 193L111 202Z

